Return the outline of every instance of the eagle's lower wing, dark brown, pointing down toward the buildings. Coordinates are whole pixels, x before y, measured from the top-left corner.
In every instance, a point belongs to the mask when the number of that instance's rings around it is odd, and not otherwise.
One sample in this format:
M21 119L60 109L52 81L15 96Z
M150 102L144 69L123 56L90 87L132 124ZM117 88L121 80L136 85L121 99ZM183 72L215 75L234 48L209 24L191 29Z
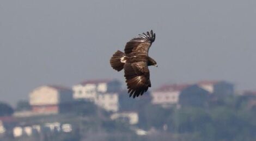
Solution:
M151 87L147 62L125 63L124 73L130 97L138 97Z

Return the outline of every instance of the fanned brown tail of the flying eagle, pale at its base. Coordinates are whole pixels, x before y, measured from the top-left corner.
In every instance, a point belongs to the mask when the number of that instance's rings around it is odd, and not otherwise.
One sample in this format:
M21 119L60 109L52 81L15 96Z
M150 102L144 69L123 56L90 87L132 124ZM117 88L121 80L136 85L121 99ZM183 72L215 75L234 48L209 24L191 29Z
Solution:
M113 54L113 56L110 59L111 67L118 72L124 68L125 63L125 54L119 50Z

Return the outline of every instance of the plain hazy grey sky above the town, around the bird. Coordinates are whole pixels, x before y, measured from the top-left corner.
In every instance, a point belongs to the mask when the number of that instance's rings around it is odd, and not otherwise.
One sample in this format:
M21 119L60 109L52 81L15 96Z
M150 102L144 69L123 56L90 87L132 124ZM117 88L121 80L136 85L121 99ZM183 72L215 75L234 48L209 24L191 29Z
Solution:
M14 104L35 87L71 87L117 78L116 50L153 29L153 88L227 80L256 89L256 1L1 0L0 100Z

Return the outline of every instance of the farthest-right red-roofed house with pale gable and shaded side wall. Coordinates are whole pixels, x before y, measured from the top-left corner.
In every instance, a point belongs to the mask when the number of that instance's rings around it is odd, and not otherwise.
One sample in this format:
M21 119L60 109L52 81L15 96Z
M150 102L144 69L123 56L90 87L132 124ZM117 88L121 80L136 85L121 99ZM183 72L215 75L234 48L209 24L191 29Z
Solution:
M225 81L199 81L197 85L208 91L210 94L234 94L234 85Z

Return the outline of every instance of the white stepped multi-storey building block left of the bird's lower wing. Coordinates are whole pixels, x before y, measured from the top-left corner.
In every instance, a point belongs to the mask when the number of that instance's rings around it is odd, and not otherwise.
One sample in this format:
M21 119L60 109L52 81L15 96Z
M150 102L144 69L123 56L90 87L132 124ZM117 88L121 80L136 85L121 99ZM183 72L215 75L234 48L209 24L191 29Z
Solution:
M88 80L73 86L72 89L73 98L76 100L90 100L107 111L118 111L118 92L121 89L118 80Z

